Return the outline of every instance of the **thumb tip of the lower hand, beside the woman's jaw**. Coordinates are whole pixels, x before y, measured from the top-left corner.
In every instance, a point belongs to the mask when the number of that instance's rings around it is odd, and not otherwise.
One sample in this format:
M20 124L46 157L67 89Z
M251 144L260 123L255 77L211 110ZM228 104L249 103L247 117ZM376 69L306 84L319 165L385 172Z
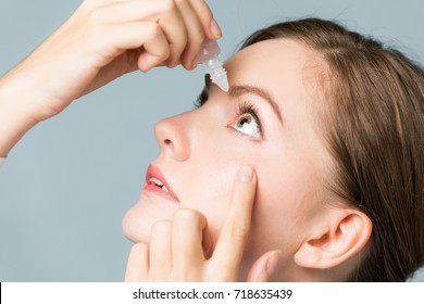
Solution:
M270 251L258 258L247 275L247 282L269 282L282 257L279 250Z

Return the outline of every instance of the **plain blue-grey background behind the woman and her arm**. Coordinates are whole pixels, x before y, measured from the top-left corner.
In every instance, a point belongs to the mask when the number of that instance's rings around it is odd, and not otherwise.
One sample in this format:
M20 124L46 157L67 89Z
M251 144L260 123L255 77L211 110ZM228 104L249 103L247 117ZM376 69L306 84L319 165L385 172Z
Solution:
M79 5L0 0L0 75ZM424 62L424 1L210 0L229 56L250 33L304 16L342 21ZM66 62L63 62L66 64ZM203 69L134 73L36 126L0 172L0 281L122 281L130 242L121 220L158 154L154 123L192 107ZM25 88L23 88L25 89ZM424 281L424 271L414 280Z

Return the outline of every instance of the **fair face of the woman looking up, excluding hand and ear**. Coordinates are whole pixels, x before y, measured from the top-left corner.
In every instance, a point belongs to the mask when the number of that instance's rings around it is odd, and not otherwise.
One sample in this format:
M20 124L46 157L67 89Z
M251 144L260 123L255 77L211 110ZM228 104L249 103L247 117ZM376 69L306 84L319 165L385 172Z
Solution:
M292 40L250 46L225 64L229 92L208 84L209 99L202 106L158 123L161 153L146 182L154 181L151 176L165 179L174 195L145 187L124 218L125 235L135 242L149 242L157 220L189 207L208 218L215 242L236 173L251 164L258 188L240 276L255 258L275 249L283 253L279 265L288 267L320 216L321 177L328 164L313 127L314 56Z

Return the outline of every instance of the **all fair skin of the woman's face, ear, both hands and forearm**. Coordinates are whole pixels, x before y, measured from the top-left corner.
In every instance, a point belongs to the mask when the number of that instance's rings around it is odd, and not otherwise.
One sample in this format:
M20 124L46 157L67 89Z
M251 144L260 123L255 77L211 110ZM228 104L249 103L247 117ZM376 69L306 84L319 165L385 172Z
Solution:
M203 39L219 37L201 0L84 1L0 79L0 155L38 123L123 74L194 68ZM290 40L249 47L226 63L228 93L212 85L202 107L157 125L161 154L153 164L179 202L142 191L126 214L124 232L136 242L126 280L338 280L335 267L347 274L356 266L339 265L361 251L372 225L356 210L328 207L321 177L331 161L313 127L311 56ZM283 123L246 86L266 90ZM262 132L239 113L246 102ZM240 124L246 117L249 124Z

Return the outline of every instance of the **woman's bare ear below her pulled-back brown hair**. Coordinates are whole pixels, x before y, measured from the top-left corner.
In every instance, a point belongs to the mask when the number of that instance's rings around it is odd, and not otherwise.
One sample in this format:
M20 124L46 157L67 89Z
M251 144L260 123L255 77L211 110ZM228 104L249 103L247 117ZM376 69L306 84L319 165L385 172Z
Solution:
M361 211L331 208L295 253L295 262L316 269L340 265L364 248L371 231L372 223Z

